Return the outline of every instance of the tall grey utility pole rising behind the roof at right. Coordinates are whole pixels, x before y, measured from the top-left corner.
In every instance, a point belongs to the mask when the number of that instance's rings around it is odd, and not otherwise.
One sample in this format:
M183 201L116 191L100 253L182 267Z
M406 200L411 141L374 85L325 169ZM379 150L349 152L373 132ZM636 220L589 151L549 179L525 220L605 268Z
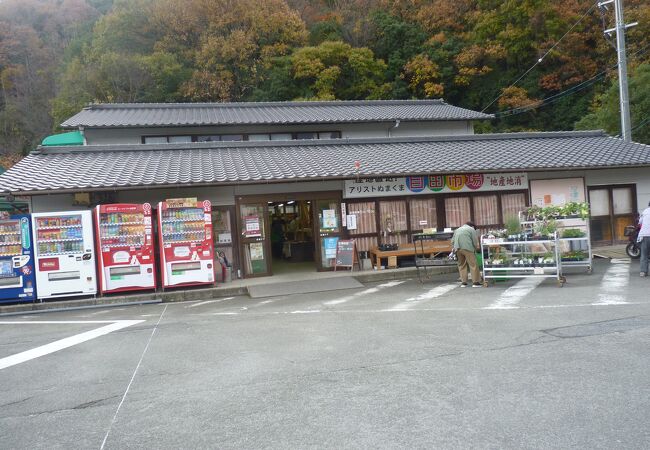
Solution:
M616 26L605 30L605 34L611 35L616 32L616 52L618 54L618 92L621 105L621 135L623 140L632 140L632 125L630 121L630 97L627 88L627 57L625 55L625 30L638 24L638 22L625 25L623 19L623 0L608 0L598 3L599 7L605 7L614 3L616 15ZM605 7L605 9L607 9Z

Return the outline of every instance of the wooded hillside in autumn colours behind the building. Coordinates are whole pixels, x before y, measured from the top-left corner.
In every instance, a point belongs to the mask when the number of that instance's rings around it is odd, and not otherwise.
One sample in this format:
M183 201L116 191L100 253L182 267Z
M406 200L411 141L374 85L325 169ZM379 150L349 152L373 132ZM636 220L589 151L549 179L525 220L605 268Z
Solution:
M650 4L625 14L650 143ZM479 132L618 134L613 23L587 0L4 0L0 151L89 102L442 97L497 113Z

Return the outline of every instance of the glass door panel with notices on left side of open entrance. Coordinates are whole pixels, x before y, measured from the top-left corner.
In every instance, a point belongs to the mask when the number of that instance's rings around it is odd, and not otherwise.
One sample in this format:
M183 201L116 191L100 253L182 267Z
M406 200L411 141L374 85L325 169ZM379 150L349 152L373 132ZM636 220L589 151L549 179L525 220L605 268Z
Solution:
M239 204L241 261L246 278L271 274L268 223L266 203Z

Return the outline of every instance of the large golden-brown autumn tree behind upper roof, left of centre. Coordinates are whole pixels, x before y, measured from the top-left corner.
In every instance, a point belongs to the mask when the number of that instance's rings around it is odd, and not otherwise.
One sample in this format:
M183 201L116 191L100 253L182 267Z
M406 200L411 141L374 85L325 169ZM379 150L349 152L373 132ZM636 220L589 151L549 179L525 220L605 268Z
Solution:
M157 48L191 61L181 92L193 101L245 98L263 81L268 60L307 40L305 24L283 0L166 0L154 21L165 30Z

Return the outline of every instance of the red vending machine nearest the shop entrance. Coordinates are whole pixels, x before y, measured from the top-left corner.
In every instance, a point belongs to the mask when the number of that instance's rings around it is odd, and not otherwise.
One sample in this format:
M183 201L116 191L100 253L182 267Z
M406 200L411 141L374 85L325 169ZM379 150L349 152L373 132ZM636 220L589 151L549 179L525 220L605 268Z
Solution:
M214 283L212 216L208 200L169 199L158 204L163 287Z

